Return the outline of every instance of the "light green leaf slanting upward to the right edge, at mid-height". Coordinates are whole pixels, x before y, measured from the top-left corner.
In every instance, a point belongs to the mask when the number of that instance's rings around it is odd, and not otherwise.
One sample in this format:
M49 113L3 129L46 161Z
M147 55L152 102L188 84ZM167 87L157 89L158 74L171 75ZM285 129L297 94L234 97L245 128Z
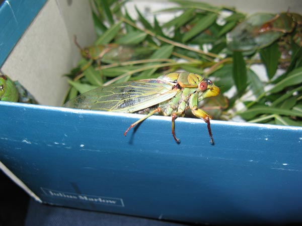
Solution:
M302 67L296 68L287 74L287 77L279 81L272 89L269 90L270 93L275 93L281 91L282 89L302 83Z

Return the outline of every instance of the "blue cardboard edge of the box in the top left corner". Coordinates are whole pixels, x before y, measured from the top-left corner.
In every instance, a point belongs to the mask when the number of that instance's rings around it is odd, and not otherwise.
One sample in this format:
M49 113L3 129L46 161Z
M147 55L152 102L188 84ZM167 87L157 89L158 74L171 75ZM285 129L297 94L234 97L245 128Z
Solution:
M0 6L0 67L47 0L6 0Z

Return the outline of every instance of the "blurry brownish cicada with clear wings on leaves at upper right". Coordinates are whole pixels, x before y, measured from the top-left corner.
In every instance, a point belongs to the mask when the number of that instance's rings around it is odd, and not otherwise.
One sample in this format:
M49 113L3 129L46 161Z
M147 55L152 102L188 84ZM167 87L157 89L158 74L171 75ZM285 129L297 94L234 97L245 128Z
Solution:
M270 45L284 34L292 34L294 42L301 46L301 25L302 16L295 13L253 14L228 34L228 47L232 51L255 50Z

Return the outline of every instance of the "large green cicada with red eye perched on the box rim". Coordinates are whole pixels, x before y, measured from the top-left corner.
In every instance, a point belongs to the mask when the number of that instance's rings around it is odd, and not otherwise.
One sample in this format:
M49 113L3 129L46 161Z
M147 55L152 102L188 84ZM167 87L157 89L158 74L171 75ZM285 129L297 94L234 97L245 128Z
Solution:
M64 104L64 107L128 112L144 114L145 117L133 123L124 133L152 115L172 116L172 135L176 142L175 119L184 117L185 111L207 123L210 143L213 145L210 119L212 117L198 108L204 98L217 96L219 87L201 75L189 72L174 72L157 79L127 81L99 87L83 93Z

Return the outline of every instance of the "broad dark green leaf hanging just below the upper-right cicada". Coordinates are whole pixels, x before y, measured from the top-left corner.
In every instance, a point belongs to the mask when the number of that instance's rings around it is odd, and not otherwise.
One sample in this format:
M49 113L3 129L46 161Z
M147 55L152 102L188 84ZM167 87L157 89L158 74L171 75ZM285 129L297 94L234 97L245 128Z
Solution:
M278 61L281 57L281 52L279 51L278 43L274 42L272 45L260 49L259 51L261 60L263 61L266 67L266 73L268 75L268 79L271 79L278 68Z

